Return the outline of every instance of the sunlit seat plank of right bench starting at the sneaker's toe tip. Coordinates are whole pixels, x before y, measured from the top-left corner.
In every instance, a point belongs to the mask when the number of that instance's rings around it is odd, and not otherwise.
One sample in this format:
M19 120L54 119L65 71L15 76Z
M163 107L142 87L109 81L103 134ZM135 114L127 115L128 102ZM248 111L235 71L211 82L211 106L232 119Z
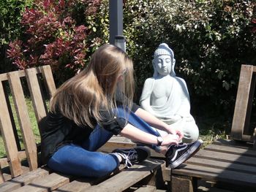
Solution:
M217 151L221 153L230 153L234 155L246 155L256 158L256 150L252 150L249 148L239 148L236 146L225 146L225 145L208 145L204 148L204 150Z

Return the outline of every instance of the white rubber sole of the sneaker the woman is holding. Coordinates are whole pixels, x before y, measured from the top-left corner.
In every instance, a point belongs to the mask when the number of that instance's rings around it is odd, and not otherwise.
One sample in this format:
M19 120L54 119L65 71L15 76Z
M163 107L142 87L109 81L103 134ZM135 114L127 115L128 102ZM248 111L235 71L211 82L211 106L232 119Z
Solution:
M187 150L186 153L181 155L180 158L178 158L176 161L174 161L172 164L170 164L170 169L175 169L177 166L182 164L184 161L187 161L189 158L191 158L195 153L197 153L198 150L200 150L201 146L203 145L203 141L201 139L197 140L195 144Z

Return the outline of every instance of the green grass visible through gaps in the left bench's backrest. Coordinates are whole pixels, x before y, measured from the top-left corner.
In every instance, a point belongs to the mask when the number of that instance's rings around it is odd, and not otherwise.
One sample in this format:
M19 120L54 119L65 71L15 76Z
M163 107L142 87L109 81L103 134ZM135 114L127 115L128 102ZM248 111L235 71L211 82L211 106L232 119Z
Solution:
M15 126L16 126L17 132L18 132L18 138L20 139L20 146L23 149L24 145L23 145L23 141L22 141L22 133L21 133L20 126L19 126L19 123L18 123L18 117L17 117L16 112L15 112L15 107L14 107L12 96L9 96L9 99L10 99L10 104L11 104L11 107L12 107ZM48 102L47 102L47 104L48 104ZM34 108L33 108L33 104L32 104L31 99L26 98L26 105L28 107L29 119L30 119L31 127L32 127L33 133L34 133L34 139L36 140L37 143L39 143L41 141L41 139L40 139L39 129L37 127L37 119L36 119L36 116L34 114ZM5 149L4 149L4 142L3 142L2 137L0 136L0 158L4 157L5 155L6 155L6 152L5 152Z

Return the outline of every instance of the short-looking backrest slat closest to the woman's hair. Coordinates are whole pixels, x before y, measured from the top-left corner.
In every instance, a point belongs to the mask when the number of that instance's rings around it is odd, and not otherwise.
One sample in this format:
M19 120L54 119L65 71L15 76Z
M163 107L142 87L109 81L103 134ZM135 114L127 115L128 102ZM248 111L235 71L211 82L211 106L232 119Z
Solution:
M56 91L56 86L53 80L53 73L51 72L50 66L40 66L39 69L42 72L42 77L51 97Z

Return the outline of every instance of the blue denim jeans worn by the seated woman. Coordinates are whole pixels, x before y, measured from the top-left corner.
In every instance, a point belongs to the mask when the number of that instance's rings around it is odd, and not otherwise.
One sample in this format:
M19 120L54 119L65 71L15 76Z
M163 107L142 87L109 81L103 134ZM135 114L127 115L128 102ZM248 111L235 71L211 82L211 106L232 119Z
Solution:
M159 136L159 133L149 126L145 121L131 112L127 116L124 109L118 107L118 117L125 118L130 124L149 134ZM48 166L57 172L72 174L83 177L102 177L113 172L119 161L116 155L96 152L113 136L100 126L96 126L90 136L85 139L83 145L68 144L59 148L49 159ZM158 150L156 145L150 145Z

